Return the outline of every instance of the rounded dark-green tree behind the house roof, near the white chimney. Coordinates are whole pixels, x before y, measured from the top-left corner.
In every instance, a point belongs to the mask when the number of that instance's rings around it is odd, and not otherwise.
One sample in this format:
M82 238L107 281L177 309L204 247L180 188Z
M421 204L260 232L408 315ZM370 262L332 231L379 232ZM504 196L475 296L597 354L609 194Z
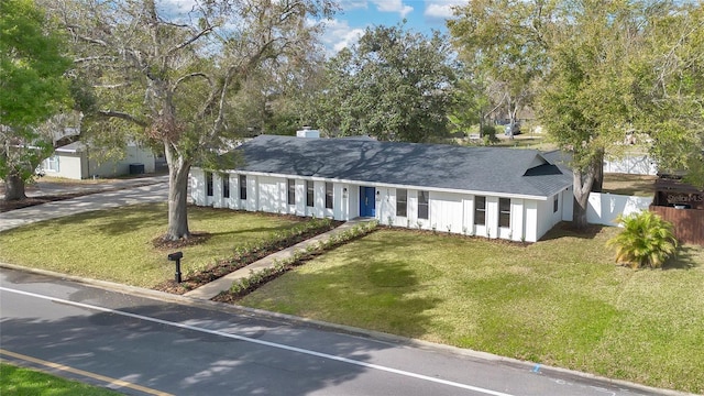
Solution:
M318 124L330 133L424 142L447 132L455 74L447 40L404 25L367 29L328 63Z

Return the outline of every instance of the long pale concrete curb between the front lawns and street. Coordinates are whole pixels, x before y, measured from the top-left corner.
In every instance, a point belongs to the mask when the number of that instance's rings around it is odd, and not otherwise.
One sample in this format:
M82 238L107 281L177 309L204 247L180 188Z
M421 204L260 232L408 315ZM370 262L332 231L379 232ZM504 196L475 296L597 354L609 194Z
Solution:
M296 317L293 315L278 314L278 312L272 312L272 311L266 311L262 309L248 308L248 307L205 300L200 298L187 297L182 295L174 295L169 293L146 289L146 288L136 287L136 286L122 285L113 282L90 279L90 278L84 278L84 277L78 277L74 275L66 275L66 274L61 274L61 273L56 273L47 270L29 268L29 267L23 267L14 264L7 264L2 262L0 262L0 268L9 268L9 270L22 271L22 272L48 276L48 277L56 277L64 280L70 280L70 282L81 283L81 284L86 284L94 287L108 289L111 292L129 294L138 297L157 299L165 302L180 304L180 305L186 305L186 306L191 306L191 307L197 307L197 308L202 308L208 310L217 310L221 312L222 311L232 312L232 314L244 315L248 317L254 317L263 320L272 320L272 321L276 320L278 322L285 321L285 322L289 322L297 326L312 327L318 329L342 332L350 336L366 338L366 339L371 339L380 342L386 342L394 345L402 345L407 348L417 348L417 349L422 349L422 350L428 350L433 352L448 353L448 354L472 359L475 361L487 361L487 362L507 364L515 367L535 371L536 374L542 374L548 372L548 373L551 373L553 376L561 377L561 378L572 377L572 378L594 380L594 381L608 383L614 386L630 388L639 392L647 392L652 395L697 396L696 394L682 393L682 392L672 391L672 389L656 388L647 385L641 385L641 384L631 383L631 382L622 381L622 380L607 378L607 377L598 376L595 374L579 372L574 370L556 367L550 365L542 365L535 362L527 362L527 361L521 361L513 358L499 356L499 355L495 355L487 352L462 349L462 348L457 348L452 345L433 343L429 341L409 339L400 336L384 333L384 332L374 331L374 330L360 329L360 328L345 326L345 324L329 323L320 320Z

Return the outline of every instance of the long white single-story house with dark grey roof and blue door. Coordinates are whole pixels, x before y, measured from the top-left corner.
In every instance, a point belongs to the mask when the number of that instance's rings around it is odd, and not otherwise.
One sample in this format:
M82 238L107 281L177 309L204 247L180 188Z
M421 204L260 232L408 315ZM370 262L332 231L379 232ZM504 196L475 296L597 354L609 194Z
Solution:
M191 169L196 205L528 242L572 219L572 176L535 150L261 135L224 155L243 165Z

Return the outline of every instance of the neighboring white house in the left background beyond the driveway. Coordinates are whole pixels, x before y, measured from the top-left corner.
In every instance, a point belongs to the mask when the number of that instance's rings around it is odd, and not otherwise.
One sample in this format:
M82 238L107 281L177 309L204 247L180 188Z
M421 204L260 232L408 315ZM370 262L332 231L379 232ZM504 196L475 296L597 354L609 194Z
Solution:
M122 160L101 161L98 155L81 143L74 142L54 151L54 155L44 160L40 167L47 176L70 179L90 177L113 177L133 173L153 173L154 154L148 148L129 145Z

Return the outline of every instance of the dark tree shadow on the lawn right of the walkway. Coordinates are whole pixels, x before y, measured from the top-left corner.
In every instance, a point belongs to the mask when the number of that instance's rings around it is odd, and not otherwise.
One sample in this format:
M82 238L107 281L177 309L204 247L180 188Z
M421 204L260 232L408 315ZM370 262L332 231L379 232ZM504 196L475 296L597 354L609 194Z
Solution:
M416 245L415 238L384 237L388 238L363 238L355 249L343 245L329 251L334 263L341 264L314 272L289 271L279 282L285 282L286 290L289 286L294 288L292 293L282 292L276 287L277 280L273 280L270 285L273 289L264 285L262 290L253 292L253 300L258 299L257 293L263 293L264 299L273 300L274 305L260 308L272 309L280 304L287 307L287 314L317 312L312 319L421 338L431 327L429 311L441 299L422 293L426 286L421 279L428 279L429 275L417 273L408 263L413 260L410 248ZM389 255L389 249L405 255ZM324 262L328 253L317 260Z

